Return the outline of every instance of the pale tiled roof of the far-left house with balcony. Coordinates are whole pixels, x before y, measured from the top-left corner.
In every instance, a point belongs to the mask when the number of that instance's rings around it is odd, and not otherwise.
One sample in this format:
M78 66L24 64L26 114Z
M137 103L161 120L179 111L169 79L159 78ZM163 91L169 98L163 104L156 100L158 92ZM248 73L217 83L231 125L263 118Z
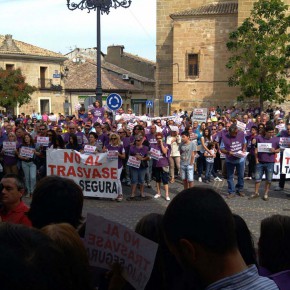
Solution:
M64 56L60 53L43 49L22 41L14 40L12 35L0 35L0 54L19 54L64 58Z

